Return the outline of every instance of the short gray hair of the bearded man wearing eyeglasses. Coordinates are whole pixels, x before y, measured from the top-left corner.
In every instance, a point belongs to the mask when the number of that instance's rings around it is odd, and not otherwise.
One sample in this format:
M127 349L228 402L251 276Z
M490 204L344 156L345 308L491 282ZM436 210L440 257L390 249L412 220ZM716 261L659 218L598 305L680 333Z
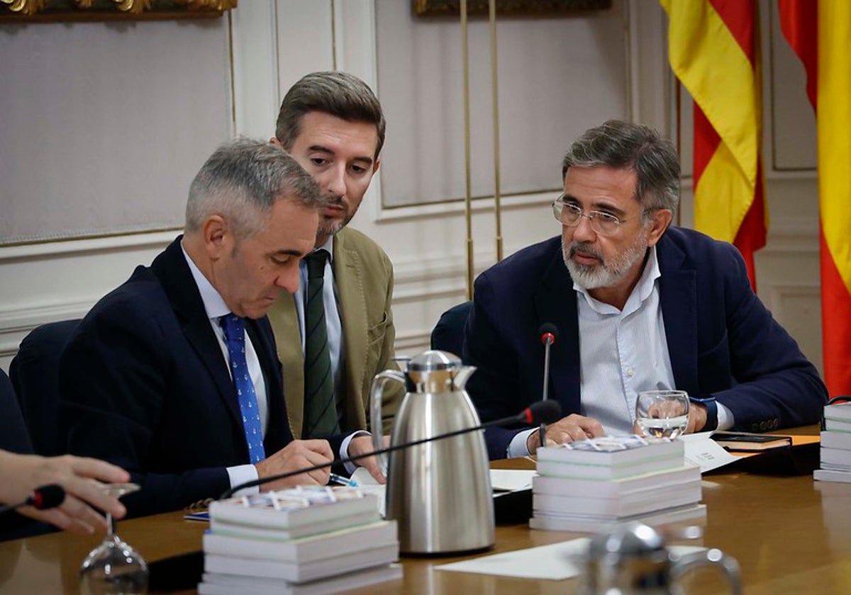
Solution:
M635 171L635 199L645 209L677 212L680 201L677 150L653 128L609 120L585 131L564 156L562 179L570 167L600 166Z

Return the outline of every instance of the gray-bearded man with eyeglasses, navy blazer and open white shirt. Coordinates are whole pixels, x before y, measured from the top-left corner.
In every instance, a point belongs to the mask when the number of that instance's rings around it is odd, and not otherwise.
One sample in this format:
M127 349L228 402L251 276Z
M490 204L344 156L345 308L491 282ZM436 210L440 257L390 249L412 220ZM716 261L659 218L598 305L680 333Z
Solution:
M549 398L566 416L547 443L631 433L637 394L688 392L688 432L763 432L817 422L827 391L797 343L751 291L730 244L671 226L679 161L654 130L610 121L563 160L552 203L562 235L476 280L464 359L483 422L543 394L540 326L559 335ZM525 456L537 428L492 428L491 458Z

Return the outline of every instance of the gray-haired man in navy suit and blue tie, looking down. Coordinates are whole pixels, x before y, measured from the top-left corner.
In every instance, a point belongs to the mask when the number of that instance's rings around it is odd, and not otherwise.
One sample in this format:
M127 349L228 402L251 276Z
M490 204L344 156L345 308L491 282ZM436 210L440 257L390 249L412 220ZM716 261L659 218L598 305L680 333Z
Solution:
M186 507L243 481L333 460L326 440L293 440L266 320L278 294L297 289L324 205L280 147L253 140L220 147L192 182L185 235L101 299L71 337L60 360L68 447L131 473L141 490L124 499L130 515ZM266 453L255 464L219 326L230 313L244 320L248 338ZM326 469L264 489L327 481Z

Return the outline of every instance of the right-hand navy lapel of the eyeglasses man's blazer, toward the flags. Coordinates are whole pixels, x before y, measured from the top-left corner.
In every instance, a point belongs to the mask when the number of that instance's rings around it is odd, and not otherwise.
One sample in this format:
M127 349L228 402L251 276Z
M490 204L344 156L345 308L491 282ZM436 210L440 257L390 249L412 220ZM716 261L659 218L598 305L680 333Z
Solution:
M656 248L661 273L660 303L665 338L677 388L696 394L697 375L697 280L685 263L685 254L662 236Z

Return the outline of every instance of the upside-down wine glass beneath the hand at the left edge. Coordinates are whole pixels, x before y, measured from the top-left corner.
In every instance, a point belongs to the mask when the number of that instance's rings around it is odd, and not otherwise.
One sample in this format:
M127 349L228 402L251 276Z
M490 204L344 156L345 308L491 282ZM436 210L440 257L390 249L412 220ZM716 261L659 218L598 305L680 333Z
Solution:
M104 491L120 498L139 490L136 484L104 484ZM148 588L148 565L145 560L115 532L115 519L106 513L106 537L80 566L80 591L90 595L101 593L145 593Z

